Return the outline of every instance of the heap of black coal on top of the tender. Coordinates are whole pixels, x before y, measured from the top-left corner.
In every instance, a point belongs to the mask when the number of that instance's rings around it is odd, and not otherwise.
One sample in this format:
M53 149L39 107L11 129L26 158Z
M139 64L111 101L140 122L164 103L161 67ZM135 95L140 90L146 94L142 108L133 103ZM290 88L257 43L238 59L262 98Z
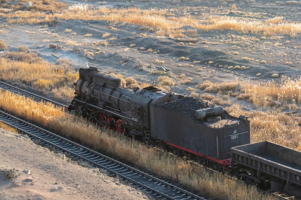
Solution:
M182 99L157 105L159 108L171 110L191 117L194 117L193 112L195 110L210 108L211 106L213 105L195 97L184 97Z

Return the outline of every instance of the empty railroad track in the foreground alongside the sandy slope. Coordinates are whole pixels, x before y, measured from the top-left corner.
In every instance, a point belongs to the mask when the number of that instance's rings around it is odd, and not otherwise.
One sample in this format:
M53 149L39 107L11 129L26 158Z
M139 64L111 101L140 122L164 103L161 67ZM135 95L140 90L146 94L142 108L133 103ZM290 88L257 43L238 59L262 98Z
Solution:
M72 154L75 157L86 160L102 169L106 169L111 174L121 178L124 182L132 184L132 186L139 188L141 191L144 191L146 194L151 195L156 199L205 200L204 198L177 187L176 185L155 178L150 174L51 133L20 118L9 115L3 111L0 111L0 121L14 127L21 133L27 134L35 139L39 139L42 142L54 146L66 153Z

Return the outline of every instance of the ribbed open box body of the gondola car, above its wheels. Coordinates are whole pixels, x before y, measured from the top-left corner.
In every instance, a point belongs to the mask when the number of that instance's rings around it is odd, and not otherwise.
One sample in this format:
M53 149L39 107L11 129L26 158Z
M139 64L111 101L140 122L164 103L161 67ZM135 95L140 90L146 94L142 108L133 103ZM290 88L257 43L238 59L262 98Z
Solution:
M232 163L301 186L301 152L263 141L231 148ZM233 166L233 164L231 164Z

